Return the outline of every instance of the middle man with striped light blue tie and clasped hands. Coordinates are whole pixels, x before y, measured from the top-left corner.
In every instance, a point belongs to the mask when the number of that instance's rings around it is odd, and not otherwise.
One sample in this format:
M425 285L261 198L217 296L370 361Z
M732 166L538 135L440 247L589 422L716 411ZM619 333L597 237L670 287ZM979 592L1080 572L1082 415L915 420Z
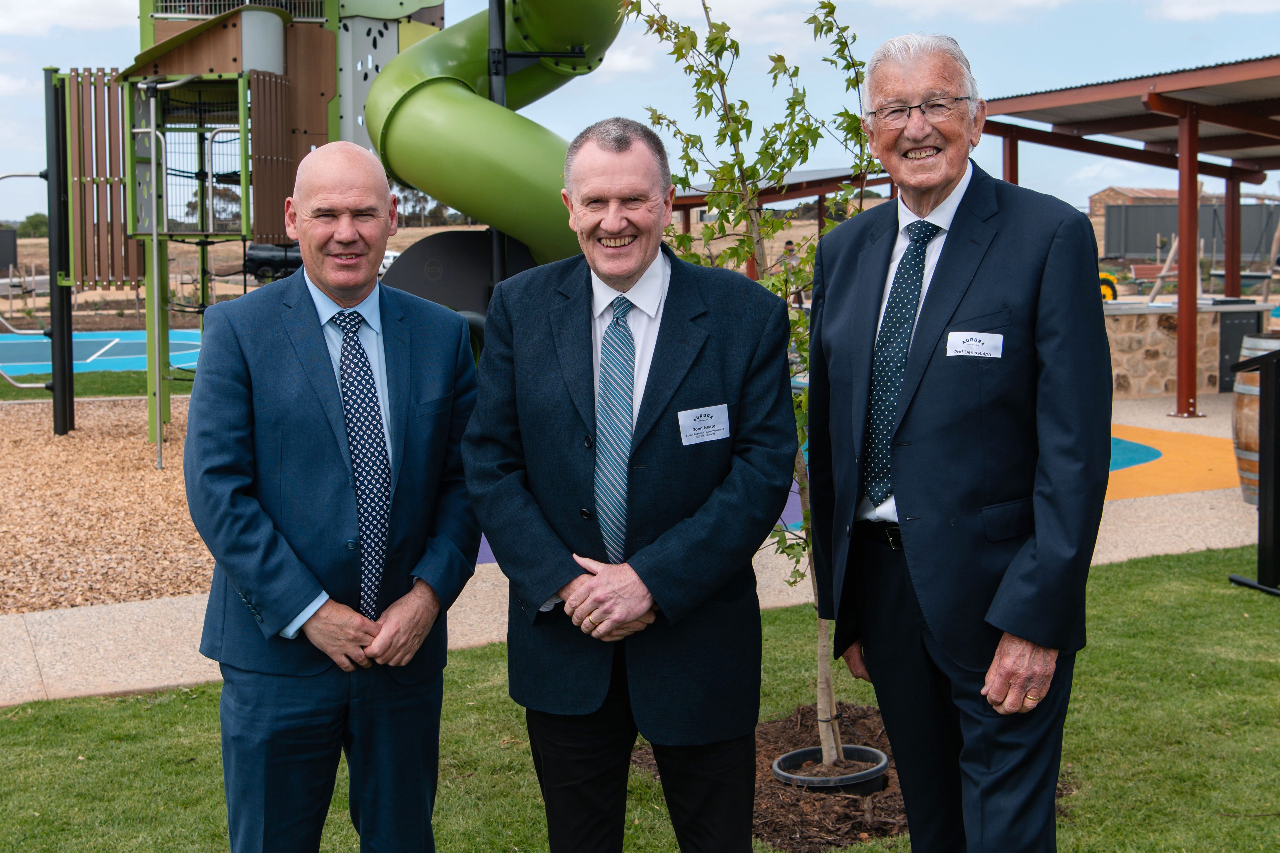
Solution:
M622 849L639 730L680 849L748 853L751 556L796 453L786 306L662 246L675 191L644 125L584 130L564 180L584 256L494 289L463 444L550 850Z

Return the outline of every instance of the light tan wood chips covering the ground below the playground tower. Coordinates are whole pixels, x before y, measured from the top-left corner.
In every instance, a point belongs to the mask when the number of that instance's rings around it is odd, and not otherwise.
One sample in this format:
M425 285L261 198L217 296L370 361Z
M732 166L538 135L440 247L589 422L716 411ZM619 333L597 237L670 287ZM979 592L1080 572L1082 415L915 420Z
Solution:
M207 592L212 558L187 514L187 400L172 402L165 468L143 400L0 405L0 614Z

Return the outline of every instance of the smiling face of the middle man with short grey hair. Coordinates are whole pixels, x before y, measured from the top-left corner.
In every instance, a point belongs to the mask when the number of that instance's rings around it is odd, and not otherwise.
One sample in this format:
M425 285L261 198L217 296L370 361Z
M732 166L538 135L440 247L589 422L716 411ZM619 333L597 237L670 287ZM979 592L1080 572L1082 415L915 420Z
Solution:
M561 192L568 224L591 270L614 290L631 289L658 257L676 197L663 183L658 160L639 141L622 152L588 142L573 159Z

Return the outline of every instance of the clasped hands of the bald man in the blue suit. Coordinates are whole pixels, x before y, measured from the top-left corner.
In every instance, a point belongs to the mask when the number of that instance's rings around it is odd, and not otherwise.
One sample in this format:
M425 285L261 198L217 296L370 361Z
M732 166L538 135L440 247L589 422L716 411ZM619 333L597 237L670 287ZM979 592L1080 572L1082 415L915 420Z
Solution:
M329 599L302 623L302 630L343 671L355 673L356 666L403 666L413 660L439 615L435 590L417 579L378 622Z

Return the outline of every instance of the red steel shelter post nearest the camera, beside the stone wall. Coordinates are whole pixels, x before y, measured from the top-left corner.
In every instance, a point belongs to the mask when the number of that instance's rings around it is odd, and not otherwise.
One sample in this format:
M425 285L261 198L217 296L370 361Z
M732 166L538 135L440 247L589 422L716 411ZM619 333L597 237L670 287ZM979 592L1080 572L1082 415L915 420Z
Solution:
M1185 104L1178 119L1178 411L1176 417L1198 417L1196 411L1197 284L1199 283L1199 105Z

